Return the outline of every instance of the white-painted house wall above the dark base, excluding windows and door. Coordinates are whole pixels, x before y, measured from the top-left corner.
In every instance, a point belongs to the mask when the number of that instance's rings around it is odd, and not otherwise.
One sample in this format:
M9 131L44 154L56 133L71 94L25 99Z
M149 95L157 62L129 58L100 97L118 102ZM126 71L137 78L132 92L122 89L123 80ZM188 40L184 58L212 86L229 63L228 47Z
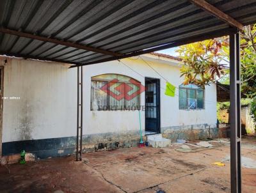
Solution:
M205 109L179 110L178 89L177 96L166 96L166 81L143 61L136 58L122 61L145 77L161 79L161 127L216 123L216 87L213 84L205 88ZM177 62L148 59L148 63L179 87L182 78ZM102 73L119 73L143 85L145 78L118 61L84 66L83 72L84 134L138 130L138 111L90 111L91 77ZM3 143L23 140L20 128L31 128L31 139L76 135L76 75L76 68L70 70L68 65L24 59L9 61L4 67L4 96L19 96L20 99L4 100ZM145 94L142 93L141 105L144 104ZM141 120L144 129L144 112L141 112Z

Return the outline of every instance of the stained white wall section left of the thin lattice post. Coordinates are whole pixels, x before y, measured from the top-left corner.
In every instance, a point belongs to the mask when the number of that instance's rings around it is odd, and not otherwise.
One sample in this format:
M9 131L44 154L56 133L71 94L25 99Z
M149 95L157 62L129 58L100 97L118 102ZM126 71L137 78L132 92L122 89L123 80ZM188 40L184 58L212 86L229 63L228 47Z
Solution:
M4 66L3 143L76 134L76 69L11 59Z

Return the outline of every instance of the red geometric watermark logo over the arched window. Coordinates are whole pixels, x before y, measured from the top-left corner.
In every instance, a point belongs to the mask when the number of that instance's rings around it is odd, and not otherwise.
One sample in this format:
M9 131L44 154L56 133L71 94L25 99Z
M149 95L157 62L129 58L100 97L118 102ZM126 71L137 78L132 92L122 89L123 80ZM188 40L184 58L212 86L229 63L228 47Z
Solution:
M132 98L145 91L145 86L133 79L130 79L128 83L113 79L109 84L102 86L100 89L116 100L132 100Z

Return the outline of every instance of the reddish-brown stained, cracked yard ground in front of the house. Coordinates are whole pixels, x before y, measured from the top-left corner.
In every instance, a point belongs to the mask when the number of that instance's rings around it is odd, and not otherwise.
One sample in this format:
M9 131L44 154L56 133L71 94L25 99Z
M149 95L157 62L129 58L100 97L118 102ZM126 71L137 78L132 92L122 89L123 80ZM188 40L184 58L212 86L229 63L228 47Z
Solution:
M195 143L87 153L82 162L70 156L1 166L0 192L230 192L228 142ZM242 155L243 192L256 192L256 138L243 139Z

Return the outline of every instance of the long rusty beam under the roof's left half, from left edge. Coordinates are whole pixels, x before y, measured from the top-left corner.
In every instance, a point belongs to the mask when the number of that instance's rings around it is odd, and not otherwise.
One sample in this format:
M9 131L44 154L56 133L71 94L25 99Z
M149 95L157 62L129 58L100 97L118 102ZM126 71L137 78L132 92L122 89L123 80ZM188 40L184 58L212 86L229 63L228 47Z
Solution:
M21 31L15 31L15 30L12 30L12 29L4 28L4 27L0 27L0 33L6 33L6 34L9 34L9 35L20 36L20 37L24 37L24 38L30 38L30 39L33 39L33 40L40 40L42 42L56 43L56 44L59 44L59 45L65 45L67 47L74 47L76 49L82 49L82 50L88 50L88 51L97 52L97 53L101 53L101 54L107 54L109 56L120 56L121 55L121 54L118 54L116 52L110 52L108 50L97 49L97 48L94 48L94 47L81 45L79 43L73 43L73 42L68 42L68 41L64 41L64 40L62 41L62 40L57 40L57 39L54 39L54 38L47 38L47 37L44 37L44 36L38 36L38 35L30 34L30 33L24 33L24 32L21 32Z

